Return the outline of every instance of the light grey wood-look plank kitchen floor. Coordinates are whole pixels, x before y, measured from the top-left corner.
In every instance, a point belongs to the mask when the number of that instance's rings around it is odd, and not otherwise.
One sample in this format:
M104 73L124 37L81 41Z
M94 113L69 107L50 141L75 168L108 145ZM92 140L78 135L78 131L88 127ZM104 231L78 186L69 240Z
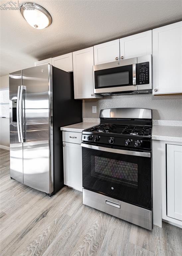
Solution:
M52 198L10 179L0 149L1 256L182 256L182 229L145 230L82 204L64 187Z

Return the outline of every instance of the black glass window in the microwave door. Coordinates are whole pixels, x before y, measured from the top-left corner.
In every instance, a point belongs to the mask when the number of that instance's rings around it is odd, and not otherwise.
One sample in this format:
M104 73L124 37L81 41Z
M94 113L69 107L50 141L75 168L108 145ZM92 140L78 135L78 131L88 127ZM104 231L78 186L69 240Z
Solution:
M133 85L133 65L94 71L95 89Z

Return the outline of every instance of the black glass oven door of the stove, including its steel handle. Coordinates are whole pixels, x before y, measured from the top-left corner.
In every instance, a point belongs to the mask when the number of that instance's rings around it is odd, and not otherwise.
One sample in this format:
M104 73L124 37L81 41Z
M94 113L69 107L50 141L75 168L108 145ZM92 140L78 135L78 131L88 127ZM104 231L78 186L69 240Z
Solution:
M152 208L151 155L89 144L82 146L83 187Z

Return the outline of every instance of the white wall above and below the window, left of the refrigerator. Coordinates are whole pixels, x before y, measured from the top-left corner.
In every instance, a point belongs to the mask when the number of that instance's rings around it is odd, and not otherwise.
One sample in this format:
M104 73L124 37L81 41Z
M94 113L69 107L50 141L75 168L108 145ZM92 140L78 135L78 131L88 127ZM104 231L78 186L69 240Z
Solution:
M9 75L0 77L0 88L9 87ZM0 148L10 146L9 118L0 118ZM8 147L8 148L7 148Z

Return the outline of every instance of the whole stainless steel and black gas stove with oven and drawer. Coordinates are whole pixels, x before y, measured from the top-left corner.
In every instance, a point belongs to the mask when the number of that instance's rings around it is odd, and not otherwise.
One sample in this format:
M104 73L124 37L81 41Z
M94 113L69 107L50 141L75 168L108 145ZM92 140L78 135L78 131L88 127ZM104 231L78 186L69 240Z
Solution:
M83 204L152 229L152 110L103 109L82 132Z

